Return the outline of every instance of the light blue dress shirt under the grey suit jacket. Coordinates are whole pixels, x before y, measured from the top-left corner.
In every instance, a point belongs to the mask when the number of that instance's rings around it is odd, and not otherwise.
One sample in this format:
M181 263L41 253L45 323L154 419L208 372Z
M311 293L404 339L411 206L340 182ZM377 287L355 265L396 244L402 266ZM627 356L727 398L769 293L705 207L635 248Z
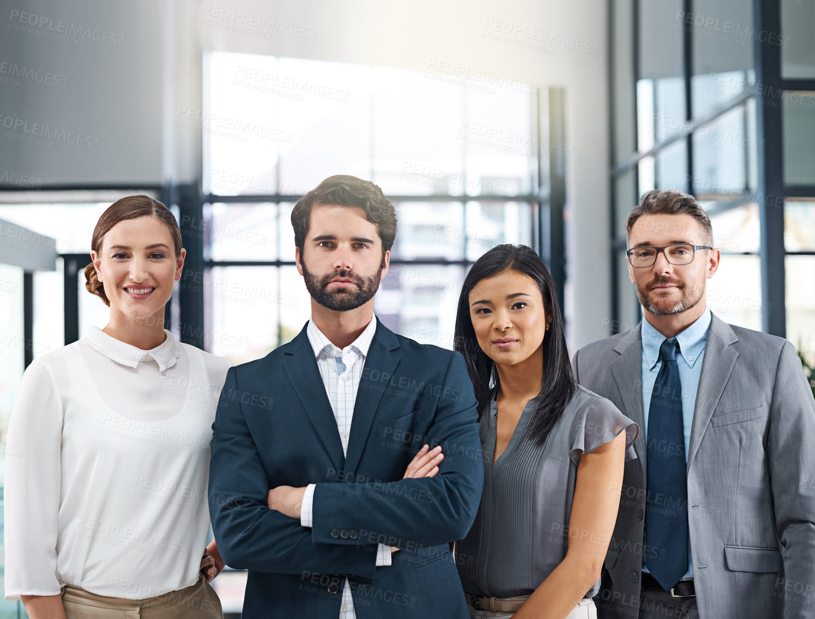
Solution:
M694 422L694 407L696 405L696 391L699 387L699 376L702 374L702 357L705 354L707 341L707 328L711 324L711 311L706 309L702 316L689 325L684 331L676 335L680 352L676 356L676 366L679 368L679 379L682 383L682 430L685 434L685 463L688 462L688 448L690 445L690 427ZM642 412L645 413L645 440L648 440L648 410L651 407L651 392L654 391L659 368L659 347L665 341L665 336L648 322L642 320ZM681 361L680 361L681 360ZM647 541L646 541L647 543ZM643 555L644 556L644 555ZM645 559L642 561L645 567ZM688 553L688 572L683 578L694 576L694 564Z

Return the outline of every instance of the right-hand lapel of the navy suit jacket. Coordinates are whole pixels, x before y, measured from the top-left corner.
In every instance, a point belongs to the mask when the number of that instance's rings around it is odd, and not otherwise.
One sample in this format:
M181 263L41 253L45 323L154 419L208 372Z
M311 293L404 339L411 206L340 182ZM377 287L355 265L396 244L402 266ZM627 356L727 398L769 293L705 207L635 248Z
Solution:
M362 458L365 445L368 444L368 435L371 432L373 418L382 395L388 388L390 377L394 375L399 365L399 356L394 350L399 348L399 341L390 329L377 321L377 332L368 348L365 357L362 378L354 403L354 418L351 420L351 432L348 438L348 452L346 455L345 471L354 473L359 459Z

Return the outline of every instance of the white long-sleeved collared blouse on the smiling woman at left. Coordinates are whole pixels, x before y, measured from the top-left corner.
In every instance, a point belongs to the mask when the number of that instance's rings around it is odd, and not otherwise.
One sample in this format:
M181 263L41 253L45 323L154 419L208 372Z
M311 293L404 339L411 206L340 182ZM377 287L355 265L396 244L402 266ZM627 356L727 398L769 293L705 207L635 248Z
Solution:
M6 599L66 584L142 599L195 584L229 362L100 329L34 360L8 427Z

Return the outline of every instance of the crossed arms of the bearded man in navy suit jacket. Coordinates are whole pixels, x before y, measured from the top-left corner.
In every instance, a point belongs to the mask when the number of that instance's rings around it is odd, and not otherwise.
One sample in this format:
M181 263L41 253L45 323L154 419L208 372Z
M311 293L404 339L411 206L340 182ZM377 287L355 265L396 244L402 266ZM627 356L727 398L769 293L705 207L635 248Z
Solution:
M331 537L331 523L428 546L463 537L478 508L483 465L475 398L472 387L463 387L469 385L469 377L460 356L452 357L443 385L455 385L458 393L465 393L457 400L438 400L428 431L429 440L441 444L447 455L443 471L429 479L367 487L365 493L354 492L356 484L317 484L311 531L300 524L294 489L284 489L290 499L289 515L269 509L267 473L240 401L222 396L213 425L209 509L226 563L260 572L349 574L372 581L379 540ZM222 393L239 389L236 371L230 369ZM460 453L452 457L456 451ZM412 489L433 496L434 502L416 501ZM302 489L296 492L302 497ZM348 515L355 522L347 520Z

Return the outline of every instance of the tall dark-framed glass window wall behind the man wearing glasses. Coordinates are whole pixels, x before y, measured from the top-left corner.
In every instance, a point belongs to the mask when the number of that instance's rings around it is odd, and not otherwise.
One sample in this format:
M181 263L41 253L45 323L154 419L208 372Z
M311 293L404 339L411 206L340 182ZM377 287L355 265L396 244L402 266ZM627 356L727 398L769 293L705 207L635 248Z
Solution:
M636 149L630 131L612 129L611 316L623 324L635 313L618 254L628 211L643 192L676 187L693 193L711 215L723 252L719 272L708 281L710 307L734 324L789 337L808 333L802 325L810 300L795 282L813 253L815 239L808 231L815 222L808 198L785 202L785 197L808 196L815 188L812 3L632 0L609 6L611 117L624 117L620 104L633 101L637 119ZM757 13L760 7L768 10ZM772 25L776 12L780 28L762 29L767 20ZM764 62L773 59L776 46L780 74L776 64ZM633 72L632 50L638 51ZM762 67L764 83L757 83ZM779 124L782 147L772 130ZM760 137L759 126L770 132ZM762 222L768 219L770 232L764 234ZM762 281L765 272L773 276ZM786 303L791 305L784 312Z

